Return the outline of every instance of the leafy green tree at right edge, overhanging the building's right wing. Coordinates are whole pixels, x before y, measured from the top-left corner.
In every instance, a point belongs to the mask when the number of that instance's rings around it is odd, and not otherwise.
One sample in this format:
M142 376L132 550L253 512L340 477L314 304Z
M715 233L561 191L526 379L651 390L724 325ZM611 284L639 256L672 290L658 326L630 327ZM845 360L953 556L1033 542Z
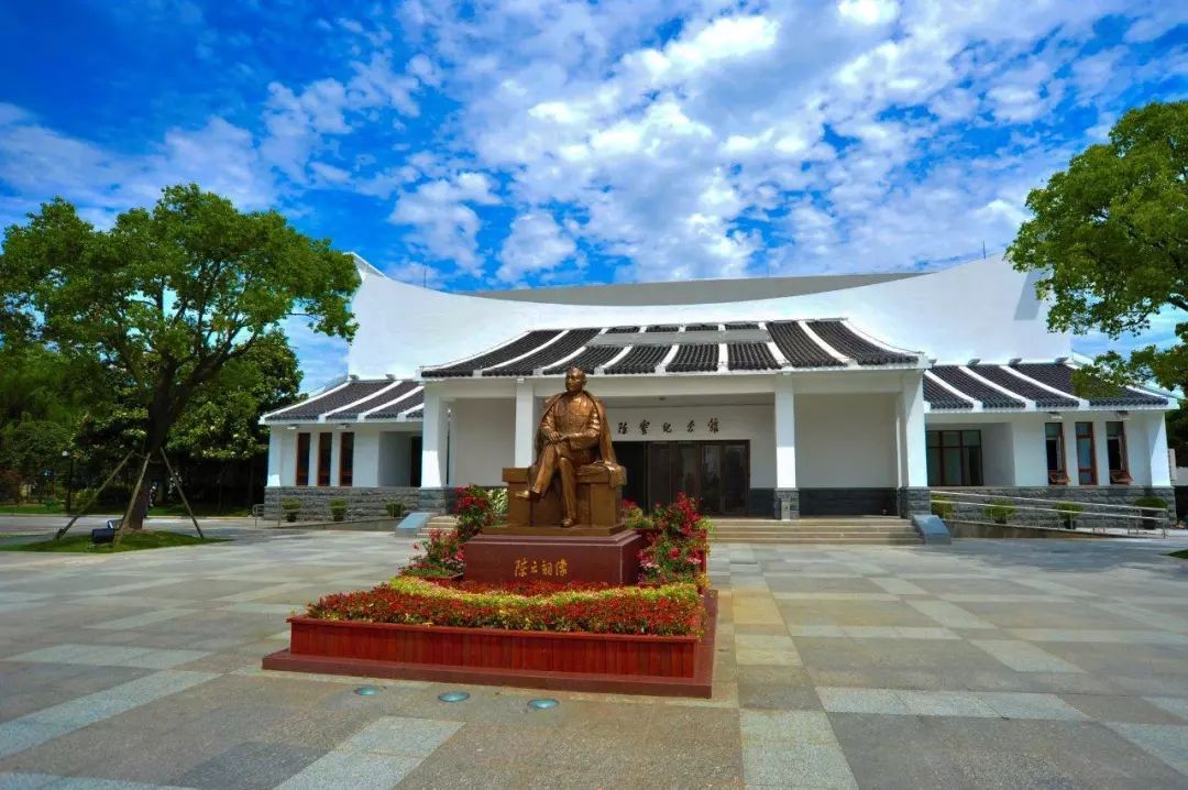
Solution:
M1040 272L1036 291L1051 298L1048 324L1099 330L1117 339L1150 327L1161 310L1188 311L1188 102L1132 109L1110 141L1073 157L1068 169L1028 195L1034 216L1007 255L1019 271ZM1180 343L1102 354L1078 377L1113 384L1154 379L1188 383L1188 323Z

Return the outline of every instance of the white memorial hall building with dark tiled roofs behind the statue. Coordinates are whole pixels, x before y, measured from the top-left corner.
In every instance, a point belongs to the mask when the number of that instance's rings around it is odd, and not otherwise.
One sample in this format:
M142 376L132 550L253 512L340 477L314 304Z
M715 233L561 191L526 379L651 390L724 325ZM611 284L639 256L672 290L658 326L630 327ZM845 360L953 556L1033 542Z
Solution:
M923 274L444 293L361 259L348 375L267 415L270 501L442 510L527 466L570 365L624 495L726 516L927 511L930 489L1171 500L1168 393L1073 390L1070 337L1000 259Z

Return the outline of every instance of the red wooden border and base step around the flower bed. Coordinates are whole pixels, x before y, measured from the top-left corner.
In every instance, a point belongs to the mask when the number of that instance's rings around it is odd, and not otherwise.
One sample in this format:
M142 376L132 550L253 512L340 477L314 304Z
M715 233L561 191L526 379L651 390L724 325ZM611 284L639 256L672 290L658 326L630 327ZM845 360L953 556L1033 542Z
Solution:
M443 683L709 697L718 594L697 637L550 633L289 618L264 669Z

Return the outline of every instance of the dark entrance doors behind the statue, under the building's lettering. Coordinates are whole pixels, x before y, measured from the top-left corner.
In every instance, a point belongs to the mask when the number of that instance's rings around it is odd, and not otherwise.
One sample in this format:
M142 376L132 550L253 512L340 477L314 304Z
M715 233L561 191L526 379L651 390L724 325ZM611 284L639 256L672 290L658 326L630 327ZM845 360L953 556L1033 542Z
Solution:
M627 468L623 495L646 510L684 493L706 513L744 514L748 449L747 442L623 442L615 447Z

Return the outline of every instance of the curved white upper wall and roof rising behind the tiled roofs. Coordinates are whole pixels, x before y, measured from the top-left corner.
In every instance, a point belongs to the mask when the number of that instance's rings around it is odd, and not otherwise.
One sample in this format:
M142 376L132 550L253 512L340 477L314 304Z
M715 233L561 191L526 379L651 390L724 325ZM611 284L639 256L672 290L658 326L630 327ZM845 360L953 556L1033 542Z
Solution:
M533 328L839 317L940 362L1072 356L1070 336L1047 329L1035 276L1016 272L999 258L906 277L748 280L770 285L772 296L746 299L726 298L753 292L750 285L740 290L738 280L467 295L390 279L361 259L360 274L362 285L354 299L359 331L348 369L364 378L413 378L418 368L472 356ZM829 290L817 290L828 283ZM664 289L703 301L642 303L655 301L649 293ZM542 301L550 295L558 301ZM613 303L575 303L582 299Z

